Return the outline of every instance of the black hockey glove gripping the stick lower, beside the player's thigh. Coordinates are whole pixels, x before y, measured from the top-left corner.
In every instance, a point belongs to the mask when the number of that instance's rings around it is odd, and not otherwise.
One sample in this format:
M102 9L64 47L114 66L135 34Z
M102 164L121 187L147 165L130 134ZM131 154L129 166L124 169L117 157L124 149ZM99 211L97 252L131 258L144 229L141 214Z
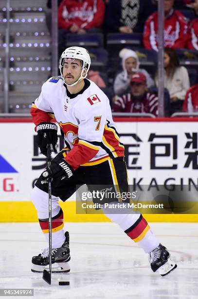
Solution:
M46 170L43 171L42 176L45 179L49 177L59 178L60 180L68 179L73 175L72 167L64 160L52 161L50 167L47 166Z

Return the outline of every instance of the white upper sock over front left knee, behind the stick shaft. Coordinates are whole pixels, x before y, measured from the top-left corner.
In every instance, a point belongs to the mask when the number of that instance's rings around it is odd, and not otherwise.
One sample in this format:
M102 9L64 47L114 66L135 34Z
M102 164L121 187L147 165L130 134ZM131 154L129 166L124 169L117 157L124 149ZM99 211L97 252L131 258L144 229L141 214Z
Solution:
M32 191L32 202L35 205L38 218L39 219L45 219L48 218L49 212L48 212L48 207L49 207L49 196L48 193L40 190L36 186L34 187ZM52 195L52 217L58 214L60 211L60 206L58 204L58 198L54 195Z

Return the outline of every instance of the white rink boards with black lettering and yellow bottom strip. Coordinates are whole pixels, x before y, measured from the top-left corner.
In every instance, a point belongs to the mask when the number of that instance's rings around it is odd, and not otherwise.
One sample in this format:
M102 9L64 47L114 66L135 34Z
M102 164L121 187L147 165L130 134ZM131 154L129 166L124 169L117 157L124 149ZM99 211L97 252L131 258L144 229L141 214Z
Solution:
M196 118L117 118L125 145L129 184L198 186ZM45 166L30 119L0 120L0 221L36 221L34 182ZM59 132L60 135L60 132ZM59 149L63 141L58 139ZM62 205L65 221L108 221L103 214L75 213L75 194ZM148 214L149 221L198 221L197 214Z

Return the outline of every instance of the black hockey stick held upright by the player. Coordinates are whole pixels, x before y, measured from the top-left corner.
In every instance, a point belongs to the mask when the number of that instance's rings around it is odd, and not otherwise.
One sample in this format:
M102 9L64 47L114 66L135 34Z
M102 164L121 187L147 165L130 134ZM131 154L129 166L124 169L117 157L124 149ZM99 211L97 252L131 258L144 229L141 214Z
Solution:
M51 164L51 145L47 145L47 163L48 167ZM49 195L49 272L43 270L43 279L51 284L52 280L52 178L49 177L48 185L48 195Z

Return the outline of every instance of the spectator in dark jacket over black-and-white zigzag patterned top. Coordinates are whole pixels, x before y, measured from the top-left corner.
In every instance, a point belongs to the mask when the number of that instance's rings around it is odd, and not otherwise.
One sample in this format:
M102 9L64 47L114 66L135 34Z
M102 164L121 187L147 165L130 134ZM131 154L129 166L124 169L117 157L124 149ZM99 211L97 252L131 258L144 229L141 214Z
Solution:
M109 0L106 6L106 32L132 33L138 21L140 0Z

